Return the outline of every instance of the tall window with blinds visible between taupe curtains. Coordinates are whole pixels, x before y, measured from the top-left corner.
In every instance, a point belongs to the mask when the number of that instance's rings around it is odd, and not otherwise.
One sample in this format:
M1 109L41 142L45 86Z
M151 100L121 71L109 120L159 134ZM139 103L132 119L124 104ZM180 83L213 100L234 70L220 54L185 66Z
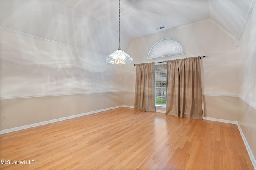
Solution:
M166 83L166 64L155 65L155 99L158 106L166 105Z

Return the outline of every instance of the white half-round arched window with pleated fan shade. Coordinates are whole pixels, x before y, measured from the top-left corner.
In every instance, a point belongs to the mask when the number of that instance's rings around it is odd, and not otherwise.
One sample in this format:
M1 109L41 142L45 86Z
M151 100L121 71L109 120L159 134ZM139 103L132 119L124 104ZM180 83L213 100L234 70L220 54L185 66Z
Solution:
M181 44L175 39L162 39L156 42L148 52L148 59L184 54Z

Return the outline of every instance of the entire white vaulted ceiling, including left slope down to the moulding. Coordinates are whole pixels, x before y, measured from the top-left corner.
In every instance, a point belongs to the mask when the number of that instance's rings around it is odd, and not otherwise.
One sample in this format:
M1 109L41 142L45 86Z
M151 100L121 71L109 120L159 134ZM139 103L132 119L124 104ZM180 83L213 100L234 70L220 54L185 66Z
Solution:
M121 47L206 19L240 39L255 1L121 0ZM0 0L0 27L108 54L118 47L118 0Z

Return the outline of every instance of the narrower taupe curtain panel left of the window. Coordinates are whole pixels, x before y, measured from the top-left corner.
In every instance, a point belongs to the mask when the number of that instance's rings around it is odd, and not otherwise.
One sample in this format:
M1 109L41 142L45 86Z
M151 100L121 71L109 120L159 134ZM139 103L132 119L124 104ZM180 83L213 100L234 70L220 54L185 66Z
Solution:
M137 64L134 108L155 112L155 70L154 63Z

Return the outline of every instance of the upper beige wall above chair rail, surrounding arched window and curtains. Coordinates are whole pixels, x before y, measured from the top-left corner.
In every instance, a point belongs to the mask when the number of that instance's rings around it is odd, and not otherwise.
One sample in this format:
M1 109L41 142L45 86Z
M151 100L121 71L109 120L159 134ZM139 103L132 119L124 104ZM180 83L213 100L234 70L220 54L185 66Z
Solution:
M184 56L147 59L152 45L164 38L176 39L184 48ZM178 29L165 31L132 41L127 51L134 64L206 55L202 59L202 88L204 93L238 94L239 47L226 33L206 20ZM134 90L136 66L123 69L124 90Z

